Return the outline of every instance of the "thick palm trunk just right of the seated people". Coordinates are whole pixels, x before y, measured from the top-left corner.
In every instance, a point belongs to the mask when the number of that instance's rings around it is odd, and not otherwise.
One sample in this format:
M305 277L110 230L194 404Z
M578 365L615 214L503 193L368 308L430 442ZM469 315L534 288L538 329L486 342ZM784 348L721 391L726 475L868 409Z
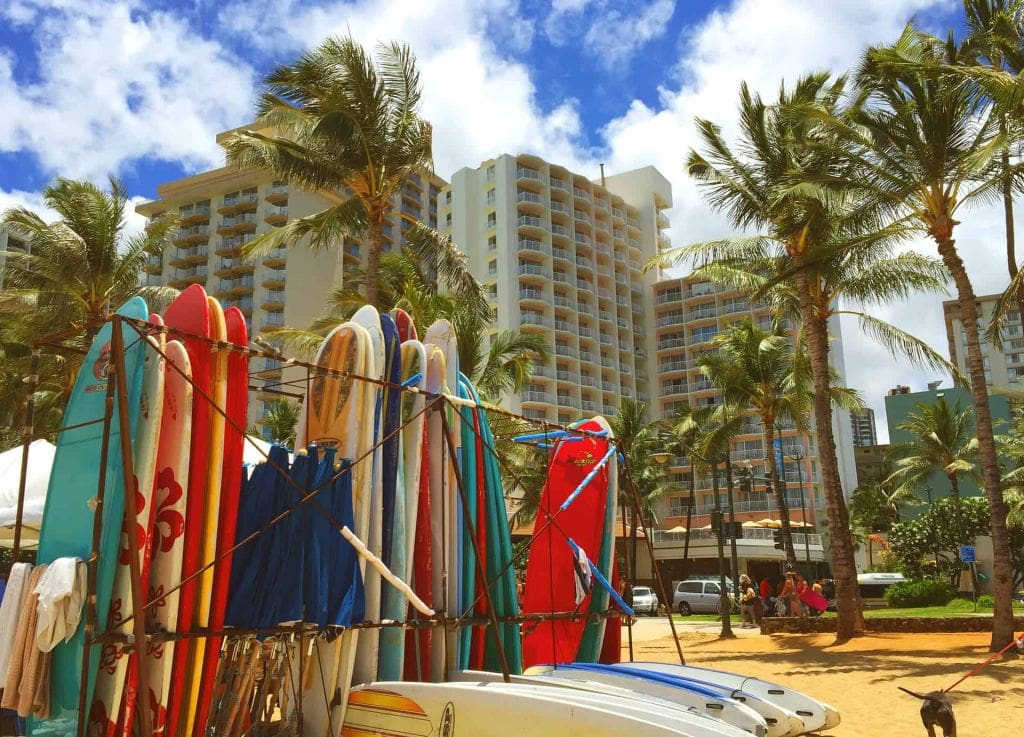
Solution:
M831 392L828 376L828 324L818 315L811 299L810 279L803 272L796 274L800 315L807 333L807 353L811 359L814 379L814 422L818 438L818 464L825 493L825 513L831 538L833 575L836 577L836 601L839 621L836 635L845 640L864 634L864 616L861 611L860 590L857 588L857 564L853 559L853 537L850 515L843 496L839 478L839 460L836 456L836 437L831 429Z

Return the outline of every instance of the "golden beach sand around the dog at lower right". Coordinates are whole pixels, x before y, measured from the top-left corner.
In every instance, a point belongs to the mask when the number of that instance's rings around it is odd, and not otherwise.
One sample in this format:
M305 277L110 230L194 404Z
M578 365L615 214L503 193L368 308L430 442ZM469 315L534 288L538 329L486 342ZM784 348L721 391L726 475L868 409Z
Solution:
M926 735L924 693L948 688L988 657L988 635L872 635L840 645L833 635L717 640L684 633L687 664L719 667L785 684L843 714L836 737ZM678 662L671 638L635 643L635 659ZM624 656L625 659L625 656ZM1024 658L992 662L950 694L958 737L1019 734L1024 720Z

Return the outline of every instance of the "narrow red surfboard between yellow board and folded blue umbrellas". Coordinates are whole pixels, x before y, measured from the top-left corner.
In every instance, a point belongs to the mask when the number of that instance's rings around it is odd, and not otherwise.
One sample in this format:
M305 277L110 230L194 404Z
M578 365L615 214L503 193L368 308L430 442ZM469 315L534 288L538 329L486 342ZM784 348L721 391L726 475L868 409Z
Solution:
M249 345L246 317L238 307L224 310L227 342L245 348ZM239 496L242 491L242 452L245 445L246 419L249 409L249 355L241 351L227 354L227 422L224 423L224 461L221 476L220 515L217 518L217 563L213 573L213 602L210 606L210 628L224 625L227 610L227 584L231 578L231 557L221 557L234 545L239 521ZM236 429L236 426L242 431ZM210 697L217 675L220 638L211 638L203 661L203 687L200 690L196 718L197 734L206 733Z

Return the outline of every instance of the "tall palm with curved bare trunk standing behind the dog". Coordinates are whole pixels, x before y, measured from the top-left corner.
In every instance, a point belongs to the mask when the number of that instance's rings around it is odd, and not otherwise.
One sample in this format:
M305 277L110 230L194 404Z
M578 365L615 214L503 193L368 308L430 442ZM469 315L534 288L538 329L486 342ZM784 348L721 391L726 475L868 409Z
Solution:
M967 334L978 456L991 516L995 608L990 647L995 651L1014 636L1013 561L977 297L954 235L964 206L998 191L1005 179L998 157L1007 136L998 131L998 120L990 111L978 110L970 85L933 73L935 67L962 57L951 42L942 43L908 26L893 46L867 50L857 76L858 102L841 126L830 127L841 131L853 147L857 185L889 208L893 222L908 233L935 242L956 288ZM1008 294L1016 296L1019 288Z

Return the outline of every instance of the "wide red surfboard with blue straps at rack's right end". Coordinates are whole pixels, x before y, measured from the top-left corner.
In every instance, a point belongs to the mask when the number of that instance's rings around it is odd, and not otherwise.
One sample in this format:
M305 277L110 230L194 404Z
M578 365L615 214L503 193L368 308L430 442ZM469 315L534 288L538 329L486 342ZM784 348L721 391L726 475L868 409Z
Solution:
M600 432L604 428L589 420L579 429ZM552 449L548 482L541 493L540 511L534 524L534 539L526 562L524 614L577 609L575 567L567 538L575 540L591 560L597 560L604 536L607 466L601 468L564 512L559 508L607 451L606 438L589 436L571 442L559 440ZM548 524L552 517L554 523ZM586 612L589 603L590 596L587 595L579 605L579 611ZM543 621L528 631L522 638L523 667L575 660L586 625L586 617L580 621L558 619Z

